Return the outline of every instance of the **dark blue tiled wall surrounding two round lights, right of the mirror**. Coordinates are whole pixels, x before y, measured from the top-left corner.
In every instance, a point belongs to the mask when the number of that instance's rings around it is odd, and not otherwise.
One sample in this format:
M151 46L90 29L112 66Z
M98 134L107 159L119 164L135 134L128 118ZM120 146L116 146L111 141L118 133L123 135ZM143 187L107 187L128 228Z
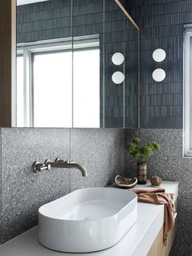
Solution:
M126 6L141 27L141 126L182 128L183 24L192 23L192 1L134 0ZM152 60L156 48L166 59ZM155 82L152 72L164 68L167 76Z

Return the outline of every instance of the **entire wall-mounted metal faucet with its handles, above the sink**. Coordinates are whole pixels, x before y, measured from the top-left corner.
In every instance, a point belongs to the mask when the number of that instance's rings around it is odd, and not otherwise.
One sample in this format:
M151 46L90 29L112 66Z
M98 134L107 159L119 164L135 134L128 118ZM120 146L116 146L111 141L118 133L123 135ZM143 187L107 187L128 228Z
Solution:
M78 169L81 170L81 174L83 177L87 177L87 170L85 167L77 164L75 161L64 161L62 159L56 158L55 161L46 160L44 164L41 164L37 161L33 162L33 171L38 172L41 170L50 170L51 167L56 168L70 168L70 169Z

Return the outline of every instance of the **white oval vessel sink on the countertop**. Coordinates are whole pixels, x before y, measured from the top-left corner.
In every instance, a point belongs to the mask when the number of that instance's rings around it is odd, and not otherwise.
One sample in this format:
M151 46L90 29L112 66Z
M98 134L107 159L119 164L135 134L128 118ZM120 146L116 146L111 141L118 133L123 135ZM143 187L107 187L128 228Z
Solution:
M62 252L94 252L115 245L136 221L135 193L80 189L40 207L38 241Z

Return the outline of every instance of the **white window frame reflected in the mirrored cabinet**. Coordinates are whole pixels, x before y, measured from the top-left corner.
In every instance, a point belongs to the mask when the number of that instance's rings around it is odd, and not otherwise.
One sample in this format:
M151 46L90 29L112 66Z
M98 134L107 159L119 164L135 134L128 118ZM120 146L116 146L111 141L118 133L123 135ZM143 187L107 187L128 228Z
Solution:
M80 49L94 49L99 47L99 35L82 36L76 38L57 38L37 42L17 44L17 55L24 56L24 127L33 127L33 78L32 55L45 51L75 51ZM16 87L15 87L16 89ZM16 115L16 90L12 109L14 109L15 126Z

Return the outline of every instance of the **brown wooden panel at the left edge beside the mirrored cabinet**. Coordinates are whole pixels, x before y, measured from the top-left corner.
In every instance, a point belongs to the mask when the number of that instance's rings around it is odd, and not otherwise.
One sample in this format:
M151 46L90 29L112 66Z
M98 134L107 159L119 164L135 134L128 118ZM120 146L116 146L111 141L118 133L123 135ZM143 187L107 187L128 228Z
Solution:
M0 1L0 126L11 126L11 87L15 86L15 0Z

